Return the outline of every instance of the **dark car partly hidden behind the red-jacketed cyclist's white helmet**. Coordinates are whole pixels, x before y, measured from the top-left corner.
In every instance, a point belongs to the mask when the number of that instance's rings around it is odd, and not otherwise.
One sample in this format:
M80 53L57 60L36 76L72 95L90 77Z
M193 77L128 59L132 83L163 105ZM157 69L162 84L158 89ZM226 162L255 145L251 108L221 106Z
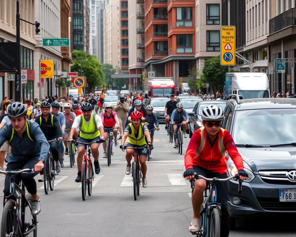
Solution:
M203 111L204 107L208 105L216 105L224 110L226 106L226 101L224 100L202 100L196 103L192 112L188 113L189 115L189 137L191 138L192 134L195 130L203 127L202 119L201 119L201 112Z

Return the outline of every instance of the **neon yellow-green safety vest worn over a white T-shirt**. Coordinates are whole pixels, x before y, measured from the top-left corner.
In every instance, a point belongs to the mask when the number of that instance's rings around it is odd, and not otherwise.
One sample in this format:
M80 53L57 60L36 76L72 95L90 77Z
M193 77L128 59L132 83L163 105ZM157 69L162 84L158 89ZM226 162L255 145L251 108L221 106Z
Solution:
M86 124L85 118L83 114L80 114L80 124L79 124L79 129L80 129L80 137L85 138L85 139L93 139L101 135L99 128L97 127L96 123L96 115L92 113L90 117L90 123Z

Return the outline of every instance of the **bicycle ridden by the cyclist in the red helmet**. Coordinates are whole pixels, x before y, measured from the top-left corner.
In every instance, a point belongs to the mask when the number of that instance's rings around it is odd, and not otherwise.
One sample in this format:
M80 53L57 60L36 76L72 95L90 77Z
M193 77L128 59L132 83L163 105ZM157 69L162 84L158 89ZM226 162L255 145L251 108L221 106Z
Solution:
M133 149L134 150L134 153L132 155L134 157L134 162L132 164L132 177L133 177L133 183L134 183L134 199L135 199L135 201L137 200L138 196L140 195L140 185L141 185L141 181L142 181L142 172L141 172L141 168L140 168L140 164L139 164L140 156L138 153L138 149L142 149L142 148L146 148L146 147L148 147L148 145L144 145L142 147L134 147L133 146L131 148L124 146L122 149L123 151L125 149Z

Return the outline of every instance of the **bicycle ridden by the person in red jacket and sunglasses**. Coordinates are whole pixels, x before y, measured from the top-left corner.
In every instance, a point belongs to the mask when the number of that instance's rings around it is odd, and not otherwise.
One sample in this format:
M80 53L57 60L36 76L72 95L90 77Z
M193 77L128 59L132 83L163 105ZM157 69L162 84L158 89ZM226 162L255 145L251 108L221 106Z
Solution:
M236 174L234 176L230 176L225 179L219 178L206 178L202 175L198 175L197 177L202 178L209 182L207 184L206 190L204 190L204 202L201 206L200 210L200 231L196 233L192 233L192 235L196 235L197 237L217 237L220 236L220 216L221 216L221 203L217 202L216 199L216 184L218 182L226 182L230 179L238 180L238 193L241 193L242 190L242 181L239 179L239 175ZM196 177L191 180L191 189L192 193L194 190L194 181Z

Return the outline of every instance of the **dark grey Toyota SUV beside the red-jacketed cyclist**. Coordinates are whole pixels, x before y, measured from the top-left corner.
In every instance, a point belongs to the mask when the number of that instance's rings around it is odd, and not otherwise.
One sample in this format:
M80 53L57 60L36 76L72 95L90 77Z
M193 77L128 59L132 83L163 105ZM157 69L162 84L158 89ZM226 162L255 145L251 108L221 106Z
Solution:
M249 178L241 194L237 181L229 182L232 226L242 215L295 213L295 99L233 97L226 103L222 127L232 135ZM233 161L229 156L226 160L228 175L235 174Z

